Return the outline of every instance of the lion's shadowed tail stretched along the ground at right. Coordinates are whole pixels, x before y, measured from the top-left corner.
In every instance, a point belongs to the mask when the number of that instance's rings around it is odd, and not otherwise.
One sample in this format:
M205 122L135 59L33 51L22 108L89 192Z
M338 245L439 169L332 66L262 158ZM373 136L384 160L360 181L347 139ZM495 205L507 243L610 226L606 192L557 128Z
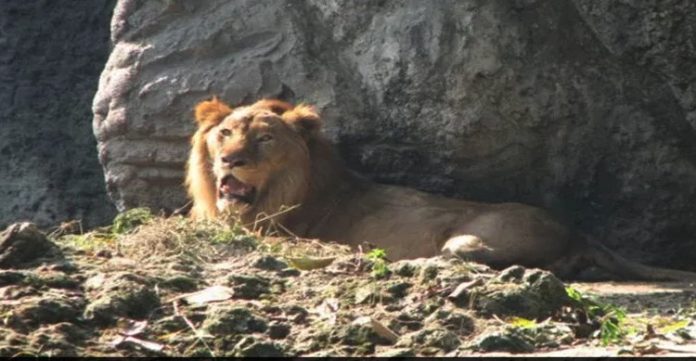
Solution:
M626 279L696 282L696 273L644 265L617 254L603 244L587 239L588 258L598 266Z

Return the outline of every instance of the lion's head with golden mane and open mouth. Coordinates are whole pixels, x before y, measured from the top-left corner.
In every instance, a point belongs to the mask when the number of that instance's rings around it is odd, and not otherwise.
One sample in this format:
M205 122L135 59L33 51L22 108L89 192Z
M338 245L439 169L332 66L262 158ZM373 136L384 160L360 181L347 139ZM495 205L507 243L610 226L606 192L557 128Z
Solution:
M302 202L309 187L308 141L321 122L311 106L261 100L231 108L196 106L187 186L196 218L231 211L246 223Z

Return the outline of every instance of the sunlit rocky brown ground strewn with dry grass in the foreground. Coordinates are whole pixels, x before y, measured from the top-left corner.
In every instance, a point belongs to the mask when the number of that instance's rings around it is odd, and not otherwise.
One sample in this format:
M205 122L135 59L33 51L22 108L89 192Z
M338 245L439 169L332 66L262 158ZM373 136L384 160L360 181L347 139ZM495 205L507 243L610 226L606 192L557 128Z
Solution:
M0 356L696 355L693 285L390 262L152 216L0 234Z

